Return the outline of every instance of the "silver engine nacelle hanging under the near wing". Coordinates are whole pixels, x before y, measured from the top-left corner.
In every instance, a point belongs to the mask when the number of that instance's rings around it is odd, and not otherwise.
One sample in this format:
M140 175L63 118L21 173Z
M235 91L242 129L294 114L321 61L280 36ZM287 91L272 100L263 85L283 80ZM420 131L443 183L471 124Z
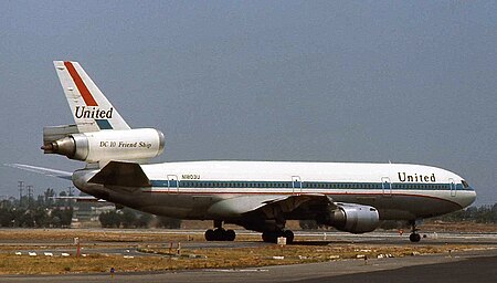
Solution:
M380 226L380 216L373 207L336 203L337 209L329 212L327 223L336 229L350 233L371 232Z

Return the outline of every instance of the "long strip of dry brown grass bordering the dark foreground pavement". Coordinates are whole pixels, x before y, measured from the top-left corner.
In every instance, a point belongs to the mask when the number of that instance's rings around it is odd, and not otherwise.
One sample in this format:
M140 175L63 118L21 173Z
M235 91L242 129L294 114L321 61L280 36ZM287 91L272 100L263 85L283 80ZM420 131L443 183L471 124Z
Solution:
M189 269L235 269L247 266L264 266L279 264L296 264L322 262L331 259L357 259L367 255L369 259L379 254L406 256L413 254L443 253L469 249L469 245L271 245L241 249L202 249L182 250L181 255L166 255L168 249L142 248L144 251L155 252L155 256L137 256L126 259L123 255L88 255L85 258L62 256L29 256L15 255L13 252L0 254L0 274L62 274L109 272L115 268L117 272L135 271L167 271ZM273 256L283 256L274 259Z

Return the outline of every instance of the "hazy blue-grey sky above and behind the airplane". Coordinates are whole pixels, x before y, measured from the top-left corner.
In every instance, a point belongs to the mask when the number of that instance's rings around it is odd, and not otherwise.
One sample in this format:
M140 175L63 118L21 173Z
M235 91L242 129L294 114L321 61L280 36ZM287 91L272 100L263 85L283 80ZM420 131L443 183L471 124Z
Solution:
M495 1L0 1L0 164L73 170L42 127L73 123L53 60L75 60L157 161L414 163L497 201ZM18 181L71 182L0 167Z

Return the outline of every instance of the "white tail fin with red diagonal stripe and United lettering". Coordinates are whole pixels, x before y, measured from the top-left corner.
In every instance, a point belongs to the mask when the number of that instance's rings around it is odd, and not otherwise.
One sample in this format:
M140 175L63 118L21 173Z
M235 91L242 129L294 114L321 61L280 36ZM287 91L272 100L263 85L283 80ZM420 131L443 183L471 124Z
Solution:
M130 128L80 63L54 61L53 64L80 133Z

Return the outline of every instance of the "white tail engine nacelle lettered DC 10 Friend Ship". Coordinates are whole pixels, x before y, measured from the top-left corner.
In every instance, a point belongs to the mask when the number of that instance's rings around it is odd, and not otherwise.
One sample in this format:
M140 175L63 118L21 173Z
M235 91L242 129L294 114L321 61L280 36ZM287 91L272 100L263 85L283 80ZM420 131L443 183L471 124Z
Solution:
M154 128L101 130L71 134L45 144L45 154L97 163L103 160L146 160L162 154L165 137Z

